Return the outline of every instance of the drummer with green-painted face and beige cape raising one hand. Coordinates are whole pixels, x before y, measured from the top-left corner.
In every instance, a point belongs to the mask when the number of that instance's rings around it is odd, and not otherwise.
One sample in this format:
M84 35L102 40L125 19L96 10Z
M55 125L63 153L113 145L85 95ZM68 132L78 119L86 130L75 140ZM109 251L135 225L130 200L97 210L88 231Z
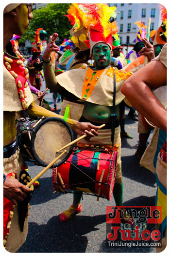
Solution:
M55 39L55 38L54 38ZM131 76L131 72L114 70L110 67L111 57L113 56L113 38L110 35L107 40L103 40L101 32L89 30L89 45L95 62L94 66L87 66L79 70L67 71L56 78L51 72L50 64L44 64L44 74L48 88L56 90L68 100L83 99L85 107L80 122L87 121L96 125L105 123L105 127L98 131L98 138L92 138L88 144L81 140L78 146L87 150L102 147L107 150L118 150L117 176L113 189L113 196L116 205L122 205L122 177L120 160L120 133L119 133L119 111L118 105L124 96L120 93L120 88L125 79ZM50 45L47 46L43 58L50 56ZM114 72L116 75L116 98L115 98L115 127L114 142L111 141L111 115L113 114L113 91L114 91ZM53 76L53 77L52 77ZM68 210L60 215L60 221L67 221L75 214L82 211L81 207L82 192L74 194L73 203Z

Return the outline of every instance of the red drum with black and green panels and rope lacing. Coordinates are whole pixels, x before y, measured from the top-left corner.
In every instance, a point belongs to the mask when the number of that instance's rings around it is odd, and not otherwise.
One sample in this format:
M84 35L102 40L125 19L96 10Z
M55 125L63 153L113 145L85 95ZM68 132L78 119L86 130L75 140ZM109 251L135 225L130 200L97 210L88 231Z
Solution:
M117 169L117 151L77 150L58 168L53 168L56 192L77 190L110 200Z

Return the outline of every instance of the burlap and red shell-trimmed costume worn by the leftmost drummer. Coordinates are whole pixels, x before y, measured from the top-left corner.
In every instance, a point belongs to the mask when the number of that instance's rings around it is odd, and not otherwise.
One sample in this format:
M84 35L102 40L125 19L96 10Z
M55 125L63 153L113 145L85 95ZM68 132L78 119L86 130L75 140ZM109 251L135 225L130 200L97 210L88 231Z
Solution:
M17 46L12 48L11 42L8 43L6 49L11 55L7 52L3 54L3 111L9 112L9 115L15 115L16 111L28 108L33 101L33 96L28 86L27 79L29 75L28 69L24 68L23 56L17 51ZM21 170L27 169L19 153L17 140L10 145L4 146L3 166L3 172L7 177L17 178L18 180ZM13 205L6 197L3 197L3 201L3 242L7 251L15 253L26 239L28 217L25 218L22 232L18 222L18 206Z

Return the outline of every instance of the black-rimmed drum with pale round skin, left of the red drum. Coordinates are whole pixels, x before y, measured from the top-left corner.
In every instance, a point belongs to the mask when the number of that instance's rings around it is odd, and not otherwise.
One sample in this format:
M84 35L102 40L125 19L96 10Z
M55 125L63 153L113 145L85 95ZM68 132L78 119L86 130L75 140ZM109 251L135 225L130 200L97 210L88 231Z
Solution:
M17 123L19 147L23 158L40 166L47 166L62 152L57 150L74 139L68 123L61 118L20 119ZM73 145L53 167L64 163L72 153Z

